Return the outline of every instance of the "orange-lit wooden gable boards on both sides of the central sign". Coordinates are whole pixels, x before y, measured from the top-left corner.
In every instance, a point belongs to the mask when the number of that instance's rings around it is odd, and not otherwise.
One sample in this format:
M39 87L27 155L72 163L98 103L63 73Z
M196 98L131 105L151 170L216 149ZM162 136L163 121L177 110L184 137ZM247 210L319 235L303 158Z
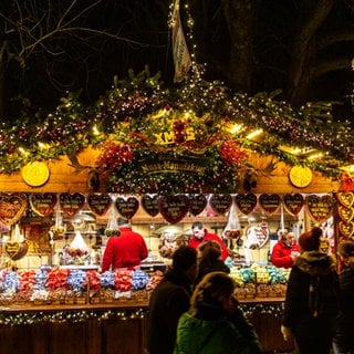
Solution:
M100 155L100 150L87 148L77 154L77 160L82 170L73 167L67 156L62 156L59 160L46 162L50 177L48 181L39 187L27 185L22 178L21 171L11 175L0 175L0 191L2 192L92 192L88 186L88 171L94 168L94 162ZM253 194L325 194L335 192L340 187L339 179L332 179L313 173L311 184L304 188L294 187L289 180L290 166L278 162L272 156L260 156L252 153L249 155L250 165L254 167L257 177L257 187L250 191ZM241 176L241 179L243 177ZM107 191L105 181L101 177L101 184L97 191ZM243 186L236 188L235 192L244 192Z

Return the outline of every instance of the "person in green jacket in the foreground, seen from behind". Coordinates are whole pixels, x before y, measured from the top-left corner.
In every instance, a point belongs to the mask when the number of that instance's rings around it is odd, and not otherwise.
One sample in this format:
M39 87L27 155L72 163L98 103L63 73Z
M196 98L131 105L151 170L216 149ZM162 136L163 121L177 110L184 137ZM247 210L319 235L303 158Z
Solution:
M235 288L225 272L204 277L189 311L179 319L174 354L262 353L253 326L238 306Z

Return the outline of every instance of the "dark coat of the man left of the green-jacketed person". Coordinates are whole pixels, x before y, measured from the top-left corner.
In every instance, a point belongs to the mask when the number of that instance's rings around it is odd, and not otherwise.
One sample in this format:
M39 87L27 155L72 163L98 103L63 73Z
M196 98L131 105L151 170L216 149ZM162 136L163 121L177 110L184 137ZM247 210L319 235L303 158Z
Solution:
M170 270L153 291L147 332L149 354L174 352L178 320L190 305L191 285L186 275Z

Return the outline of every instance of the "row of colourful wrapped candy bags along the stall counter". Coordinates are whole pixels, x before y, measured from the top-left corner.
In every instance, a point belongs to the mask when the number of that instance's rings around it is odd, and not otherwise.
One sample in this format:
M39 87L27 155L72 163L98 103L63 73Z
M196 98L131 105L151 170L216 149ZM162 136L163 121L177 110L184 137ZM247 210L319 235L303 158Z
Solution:
M284 296L289 270L273 266L233 267L230 272L240 299ZM21 273L0 272L0 303L75 304L144 301L164 272L116 270L100 273L80 268L45 268Z

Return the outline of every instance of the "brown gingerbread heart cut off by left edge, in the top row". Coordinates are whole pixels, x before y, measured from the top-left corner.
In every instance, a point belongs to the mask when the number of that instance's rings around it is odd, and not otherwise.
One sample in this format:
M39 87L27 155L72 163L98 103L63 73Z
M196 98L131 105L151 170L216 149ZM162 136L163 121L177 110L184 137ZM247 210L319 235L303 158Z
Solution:
M13 225L18 221L28 206L24 195L0 194L0 221Z

